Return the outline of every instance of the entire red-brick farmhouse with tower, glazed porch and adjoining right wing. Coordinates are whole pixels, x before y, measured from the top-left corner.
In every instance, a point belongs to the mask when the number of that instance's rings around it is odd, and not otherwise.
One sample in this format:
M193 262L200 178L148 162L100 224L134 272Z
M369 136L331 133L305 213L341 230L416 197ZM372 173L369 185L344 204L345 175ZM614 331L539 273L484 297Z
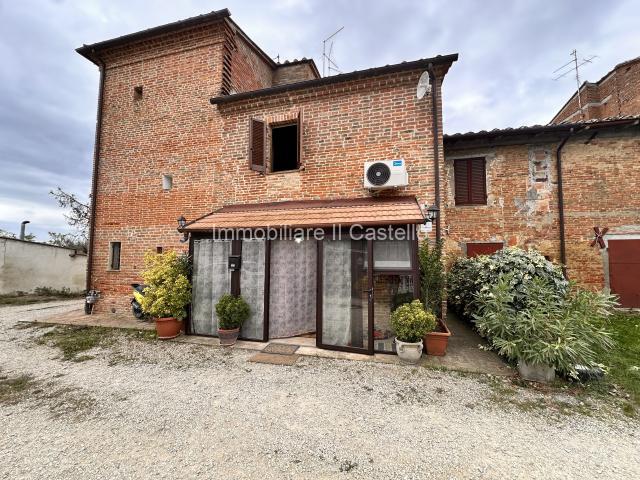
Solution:
M232 292L251 306L244 338L315 334L323 348L388 352L390 309L419 295L427 205L440 206L429 235L451 252L535 246L592 285L607 281L608 260L585 246L589 229L640 224L637 119L443 142L455 54L321 78L312 60L275 63L227 10L78 52L101 73L87 280L102 292L97 311L129 308L145 251L179 249L193 258L191 333L216 335L213 305ZM556 149L570 132L562 255Z

